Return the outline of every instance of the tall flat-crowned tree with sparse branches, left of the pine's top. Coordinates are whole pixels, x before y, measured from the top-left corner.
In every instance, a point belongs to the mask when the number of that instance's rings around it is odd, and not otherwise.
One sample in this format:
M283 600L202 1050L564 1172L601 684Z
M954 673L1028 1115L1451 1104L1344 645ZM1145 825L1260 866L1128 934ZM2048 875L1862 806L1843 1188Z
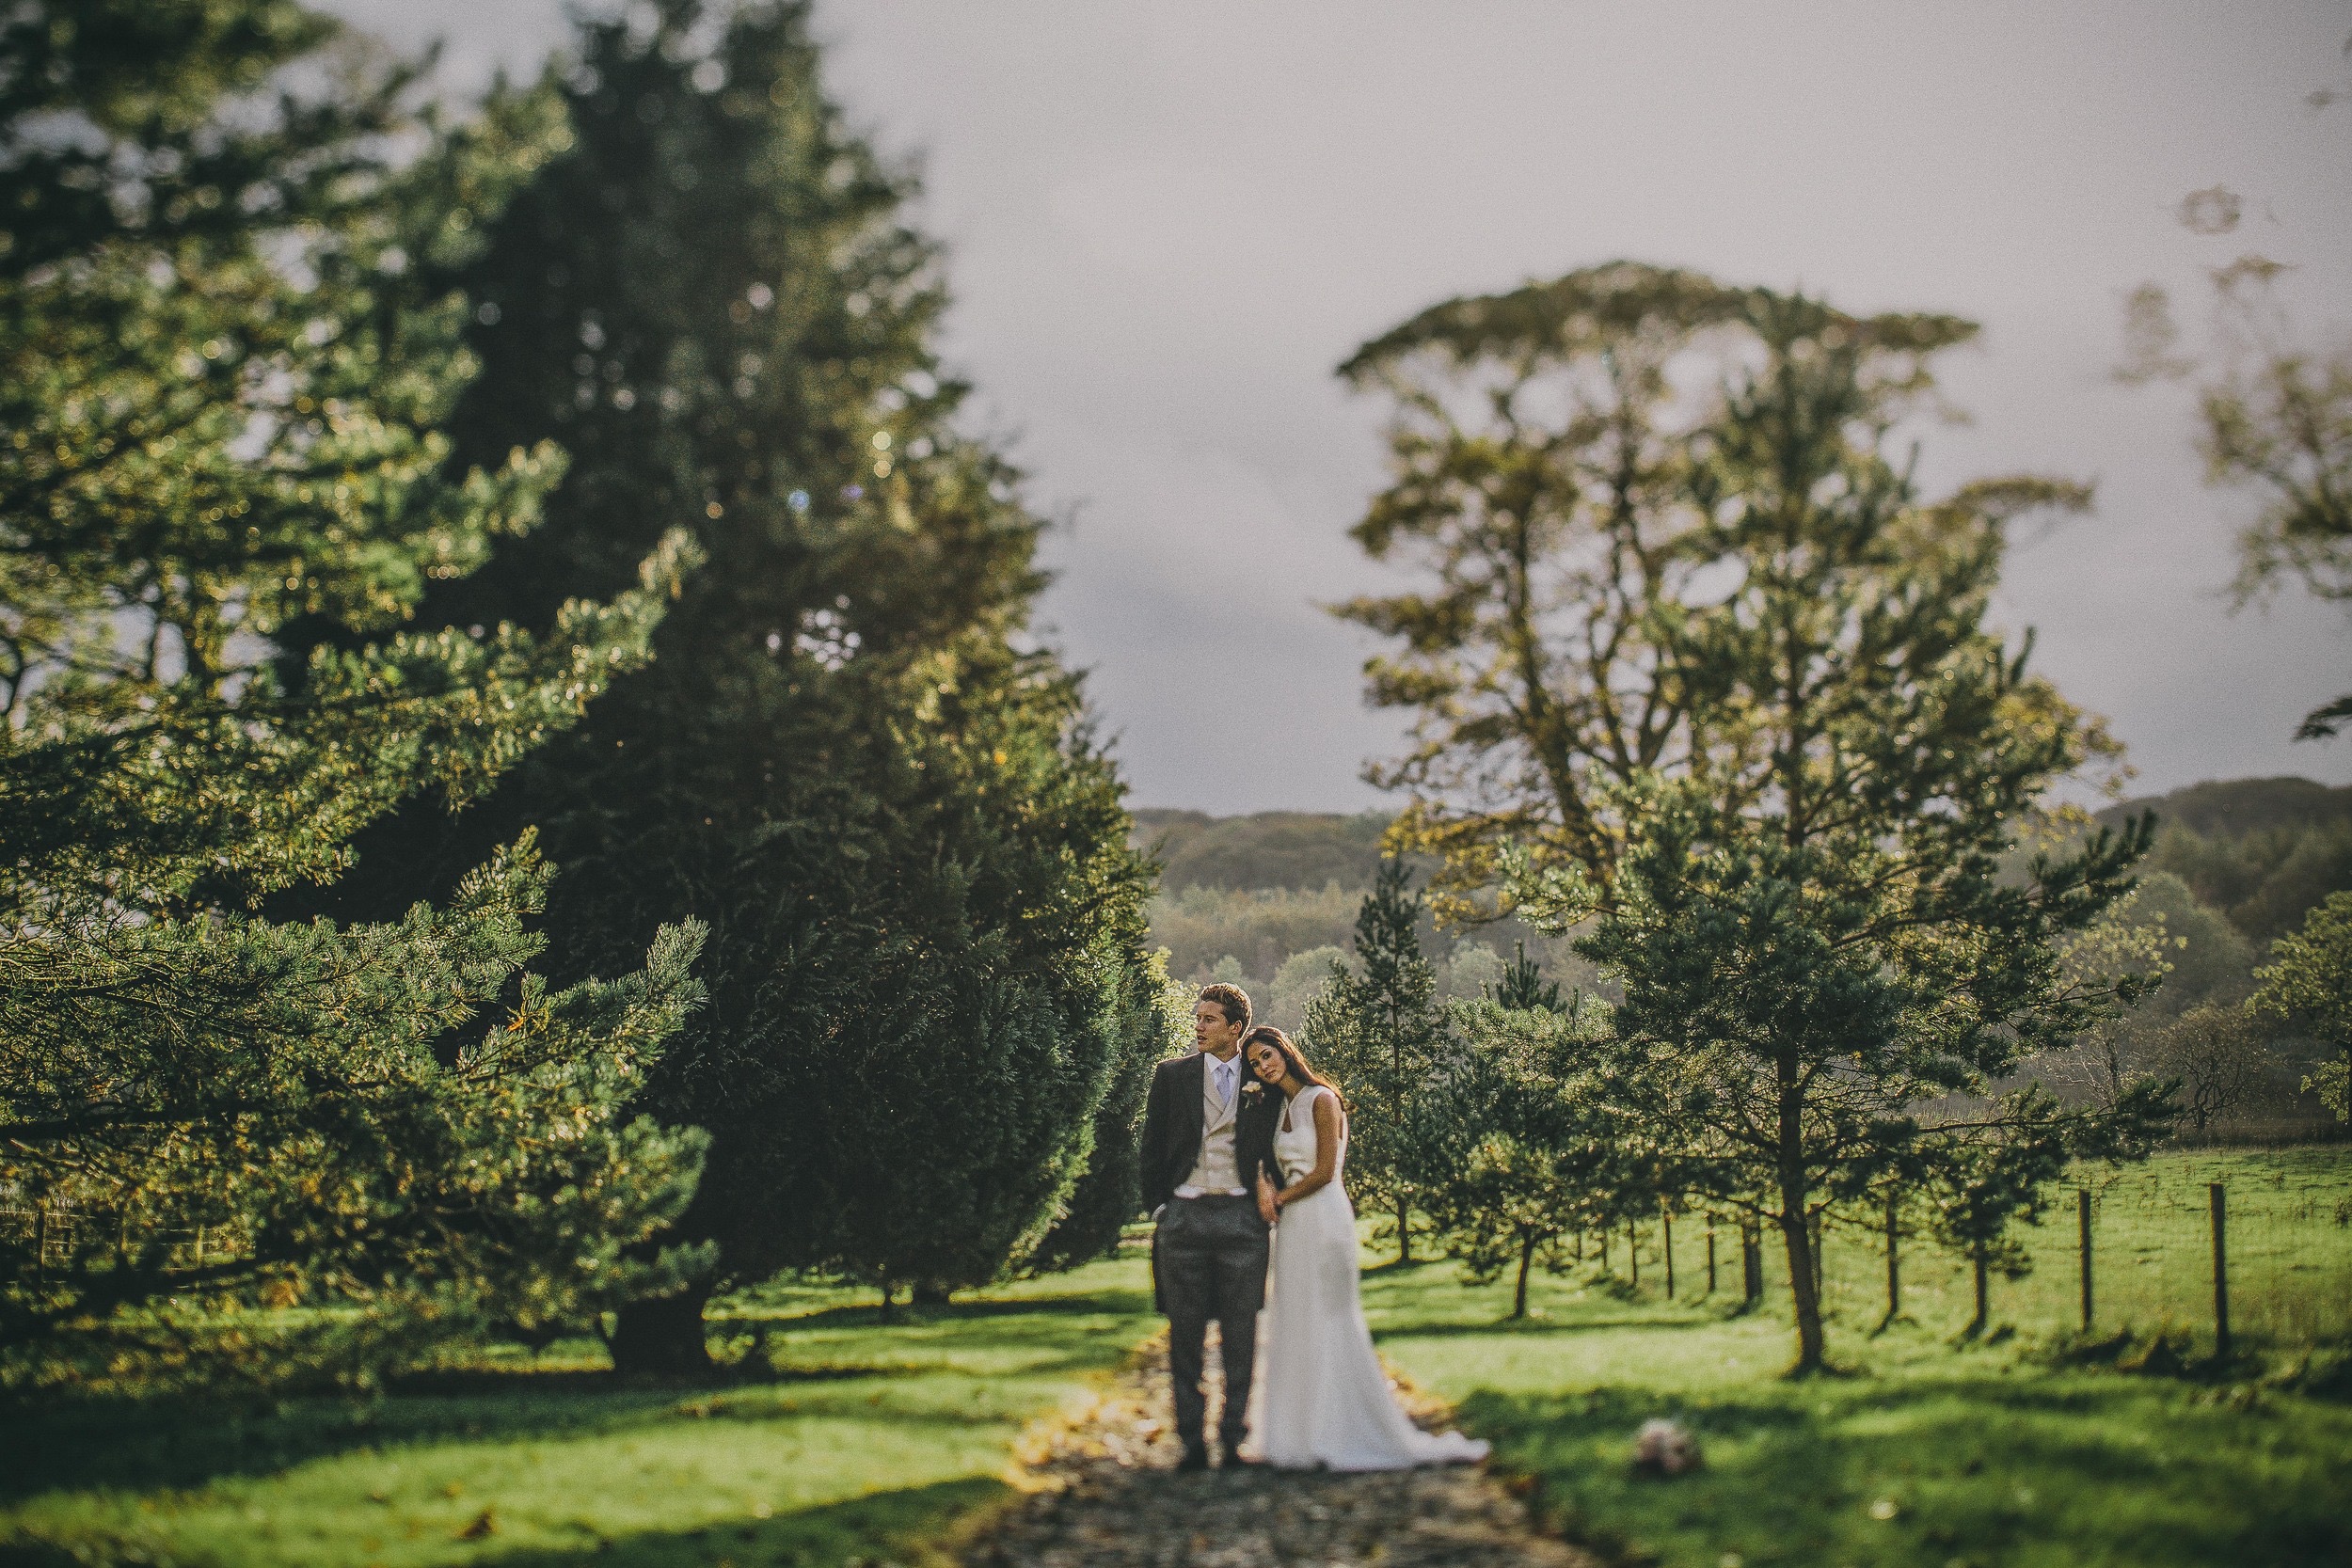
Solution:
M1712 559L1689 435L1738 310L1616 261L1444 301L1341 367L1395 400L1397 480L1352 536L1425 585L1336 614L1402 644L1367 677L1414 750L1371 778L1409 790L1390 842L1442 856L1444 917L1482 912L1505 842L1606 872L1625 823L1604 785L1691 748L1658 611Z

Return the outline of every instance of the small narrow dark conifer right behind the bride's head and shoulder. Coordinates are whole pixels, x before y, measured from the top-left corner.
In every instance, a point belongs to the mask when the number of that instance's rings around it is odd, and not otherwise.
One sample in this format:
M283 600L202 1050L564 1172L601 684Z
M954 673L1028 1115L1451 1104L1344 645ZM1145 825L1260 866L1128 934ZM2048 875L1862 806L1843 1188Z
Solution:
M1451 1032L1437 971L1421 952L1421 893L1383 860L1355 917L1357 971L1331 966L1308 1001L1305 1044L1348 1098L1348 1187L1388 1215L1397 1262L1414 1260L1414 1213L1454 1152Z

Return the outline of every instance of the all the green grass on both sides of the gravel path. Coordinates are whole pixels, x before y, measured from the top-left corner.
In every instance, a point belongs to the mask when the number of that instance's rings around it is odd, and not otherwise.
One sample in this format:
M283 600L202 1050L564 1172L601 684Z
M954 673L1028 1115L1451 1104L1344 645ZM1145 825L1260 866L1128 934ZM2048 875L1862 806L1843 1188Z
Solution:
M2347 1173L2352 1150L2171 1154L2126 1173L2096 1211L2114 1253L2096 1267L2147 1281L2138 1298L2114 1286L2103 1333L2136 1300L2171 1300L2157 1288L2171 1262L2124 1262L2143 1253L2183 1258L2178 1326L2197 1331L2209 1241L2192 1222L2201 1208L2178 1218L2169 1194L2201 1204L2216 1178L2232 1204L2249 1194L2237 1314L2270 1324L2258 1340L2317 1321L2265 1316L2263 1293L2343 1279L2347 1227L2331 1192ZM2256 1192L2274 1194L2267 1211ZM2277 1265L2260 1262L2260 1213L2284 1215L2293 1237ZM2051 1234L2072 1246L2070 1204ZM2025 1281L1999 1281L1994 1333L1957 1342L1966 1276L1917 1239L1905 1321L1872 1333L1884 1258L1865 1241L1832 1227L1839 1371L1806 1382L1780 1378L1792 1345L1778 1274L1764 1307L1740 1314L1726 1246L1703 1298L1691 1225L1675 1239L1672 1302L1644 1232L1637 1291L1592 1269L1541 1276L1519 1324L1503 1321L1508 1281L1470 1288L1446 1265L1374 1269L1367 1307L1388 1356L1458 1401L1548 1521L1613 1563L2352 1561L2352 1378L2328 1347L2307 1368L2277 1342L2227 1368L2197 1363L2192 1347L2187 1375L2079 1363L2063 1354L2074 1340L2042 1331L2065 1328L2077 1302L2065 1248ZM1611 1258L1623 1274L1623 1248ZM901 1324L877 1321L870 1295L741 1298L713 1335L734 1366L699 1385L614 1385L593 1347L560 1345L536 1361L485 1354L372 1401L12 1415L0 1563L908 1563L1002 1497L1021 1427L1082 1394L1150 1326L1143 1262L1122 1255ZM1700 1472L1665 1481L1630 1467L1632 1432L1653 1415L1700 1436Z

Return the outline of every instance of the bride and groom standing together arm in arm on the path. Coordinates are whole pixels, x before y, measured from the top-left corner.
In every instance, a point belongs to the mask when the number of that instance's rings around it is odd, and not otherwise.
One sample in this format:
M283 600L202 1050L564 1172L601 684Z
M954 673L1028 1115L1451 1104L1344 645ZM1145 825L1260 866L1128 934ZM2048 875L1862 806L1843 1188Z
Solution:
M1414 1427L1371 1349L1355 1206L1341 1185L1348 1112L1329 1079L1282 1030L1249 1027L1237 985L1202 987L1192 1044L1197 1053L1160 1063L1143 1112L1152 1295L1169 1319L1181 1469L1209 1467L1211 1319L1225 1366L1225 1465L1404 1469L1484 1458L1486 1443Z

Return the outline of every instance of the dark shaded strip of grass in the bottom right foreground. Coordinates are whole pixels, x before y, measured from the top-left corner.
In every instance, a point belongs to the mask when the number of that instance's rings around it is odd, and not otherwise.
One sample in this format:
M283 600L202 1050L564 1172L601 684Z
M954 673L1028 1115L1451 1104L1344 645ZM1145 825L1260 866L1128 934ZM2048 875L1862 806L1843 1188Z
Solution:
M2314 1406L2249 1429L2133 1380L1955 1373L1715 1396L1486 1392L1461 1415L1606 1561L2352 1561L2352 1481L2331 1458L2347 1432ZM1632 1434L1658 1415L1698 1436L1698 1472L1632 1467Z

